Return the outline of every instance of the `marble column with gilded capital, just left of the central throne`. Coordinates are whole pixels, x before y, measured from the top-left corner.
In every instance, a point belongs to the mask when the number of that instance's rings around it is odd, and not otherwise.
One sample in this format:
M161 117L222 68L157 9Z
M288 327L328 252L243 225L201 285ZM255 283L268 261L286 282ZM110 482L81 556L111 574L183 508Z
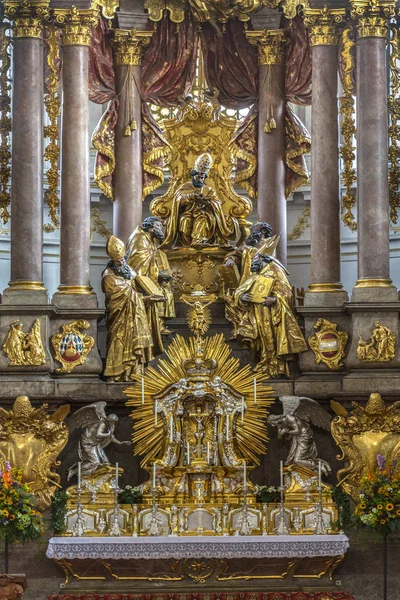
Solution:
M114 65L118 94L115 127L114 235L128 241L142 222L142 107L140 64L142 48L152 31L115 30Z

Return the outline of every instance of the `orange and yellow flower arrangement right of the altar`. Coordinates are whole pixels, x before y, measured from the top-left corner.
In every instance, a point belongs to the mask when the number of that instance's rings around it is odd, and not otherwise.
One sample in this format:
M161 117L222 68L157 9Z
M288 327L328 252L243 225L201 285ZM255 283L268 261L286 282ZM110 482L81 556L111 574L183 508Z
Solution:
M400 530L400 469L378 454L377 468L362 477L355 518L383 534Z

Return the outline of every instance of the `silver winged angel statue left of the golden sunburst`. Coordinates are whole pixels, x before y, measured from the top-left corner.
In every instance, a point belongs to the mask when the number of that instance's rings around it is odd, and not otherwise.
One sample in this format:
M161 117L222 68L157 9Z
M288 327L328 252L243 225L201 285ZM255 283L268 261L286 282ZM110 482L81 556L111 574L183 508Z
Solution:
M82 476L90 476L103 465L110 465L104 448L114 443L117 446L129 446L131 442L120 442L114 436L118 421L117 415L106 415L106 402L94 402L77 410L69 419L69 430L84 429L78 445L79 460L82 463ZM78 472L78 463L68 470L69 481Z

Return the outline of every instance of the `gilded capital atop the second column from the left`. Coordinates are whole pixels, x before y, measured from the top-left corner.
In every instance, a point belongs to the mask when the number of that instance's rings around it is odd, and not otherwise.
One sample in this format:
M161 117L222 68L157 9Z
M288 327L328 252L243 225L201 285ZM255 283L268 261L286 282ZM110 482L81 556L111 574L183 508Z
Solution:
M64 25L64 46L89 46L92 27L99 19L98 9L78 10L76 6L69 9L56 9L55 20Z

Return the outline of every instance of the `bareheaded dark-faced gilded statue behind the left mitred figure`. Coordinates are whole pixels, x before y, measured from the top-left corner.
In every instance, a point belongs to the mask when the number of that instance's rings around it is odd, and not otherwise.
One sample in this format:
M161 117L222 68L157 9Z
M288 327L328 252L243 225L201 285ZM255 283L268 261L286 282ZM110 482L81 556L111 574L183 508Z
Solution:
M164 301L157 303L155 308L161 319L161 334L169 335L171 331L166 327L165 319L175 317L174 295L171 291L172 275L167 255L156 245L156 242L162 243L164 237L161 219L147 217L130 236L126 259L136 273L149 277L157 286L159 295L164 297ZM158 328L153 331L153 341L157 333Z

